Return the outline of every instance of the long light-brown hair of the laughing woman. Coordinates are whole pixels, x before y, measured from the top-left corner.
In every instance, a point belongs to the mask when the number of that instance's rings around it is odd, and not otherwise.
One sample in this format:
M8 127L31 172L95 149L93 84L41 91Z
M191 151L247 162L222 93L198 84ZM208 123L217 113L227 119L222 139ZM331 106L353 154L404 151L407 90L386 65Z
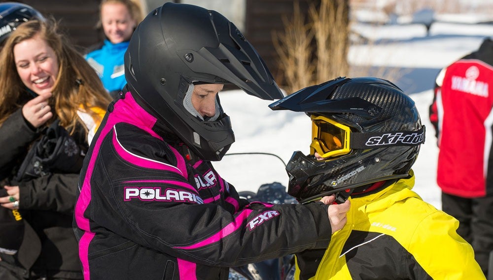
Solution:
M53 19L23 23L6 40L0 54L0 125L32 98L17 73L13 49L18 43L35 36L46 41L55 52L59 63L58 76L52 89L52 97L49 99L49 105L55 112L53 120L58 117L60 124L70 133L73 133L77 123L82 124L87 132L87 127L78 117L77 111L82 109L95 120L101 121L99 115L90 108L99 107L106 110L111 97L94 69L75 50L70 41L57 31L57 23Z

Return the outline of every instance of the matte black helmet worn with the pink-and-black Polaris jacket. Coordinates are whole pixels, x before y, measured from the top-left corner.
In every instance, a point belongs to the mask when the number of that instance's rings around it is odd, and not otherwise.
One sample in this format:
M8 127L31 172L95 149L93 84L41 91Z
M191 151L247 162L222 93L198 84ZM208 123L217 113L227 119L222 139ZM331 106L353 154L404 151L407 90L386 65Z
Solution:
M167 2L145 17L125 53L125 78L143 107L204 160L220 160L235 138L218 99L214 121L200 120L183 106L193 82L236 85L266 100L283 97L233 23L189 4Z

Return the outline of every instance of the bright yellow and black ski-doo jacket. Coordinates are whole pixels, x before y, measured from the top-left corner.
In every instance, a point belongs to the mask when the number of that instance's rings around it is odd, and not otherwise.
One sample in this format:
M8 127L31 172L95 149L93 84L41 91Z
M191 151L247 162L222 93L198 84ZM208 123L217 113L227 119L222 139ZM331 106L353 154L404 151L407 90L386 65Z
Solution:
M411 171L384 190L351 198L348 223L329 248L297 255L296 279L485 279L456 233L458 220L412 191L414 179Z

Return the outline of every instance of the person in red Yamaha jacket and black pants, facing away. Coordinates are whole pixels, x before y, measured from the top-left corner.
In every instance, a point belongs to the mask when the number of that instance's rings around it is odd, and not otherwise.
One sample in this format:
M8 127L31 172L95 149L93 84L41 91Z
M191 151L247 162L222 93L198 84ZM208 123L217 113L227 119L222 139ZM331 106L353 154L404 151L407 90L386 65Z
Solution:
M429 118L438 139L437 184L442 209L483 272L493 250L493 41L438 74Z

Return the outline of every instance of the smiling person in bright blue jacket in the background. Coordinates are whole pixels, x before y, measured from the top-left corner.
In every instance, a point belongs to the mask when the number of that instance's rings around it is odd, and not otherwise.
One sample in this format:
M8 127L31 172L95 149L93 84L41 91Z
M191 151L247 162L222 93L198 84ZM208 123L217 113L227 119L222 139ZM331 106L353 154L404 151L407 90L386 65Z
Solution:
M100 11L98 27L103 28L106 39L92 48L86 60L114 98L127 83L123 55L132 33L142 19L142 12L140 5L132 0L103 0Z

